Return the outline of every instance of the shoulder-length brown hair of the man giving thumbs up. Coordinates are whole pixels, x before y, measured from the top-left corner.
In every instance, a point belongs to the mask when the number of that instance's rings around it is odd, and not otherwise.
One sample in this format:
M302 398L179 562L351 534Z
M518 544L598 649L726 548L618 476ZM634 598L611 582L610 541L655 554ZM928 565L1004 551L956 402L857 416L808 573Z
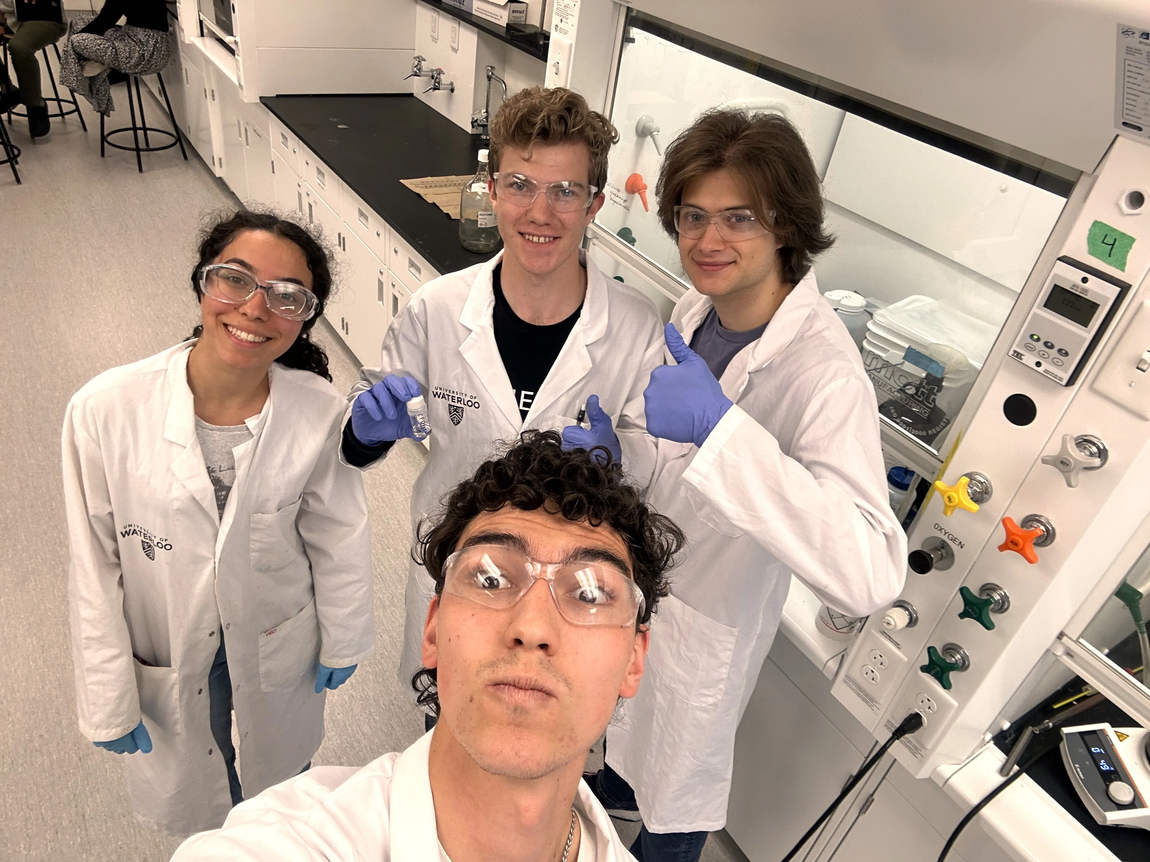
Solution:
M697 177L731 170L746 184L754 214L775 234L780 276L796 284L815 256L834 244L822 229L822 190L798 130L777 114L715 108L682 131L659 171L659 221L672 239L675 207ZM770 216L770 213L774 216Z

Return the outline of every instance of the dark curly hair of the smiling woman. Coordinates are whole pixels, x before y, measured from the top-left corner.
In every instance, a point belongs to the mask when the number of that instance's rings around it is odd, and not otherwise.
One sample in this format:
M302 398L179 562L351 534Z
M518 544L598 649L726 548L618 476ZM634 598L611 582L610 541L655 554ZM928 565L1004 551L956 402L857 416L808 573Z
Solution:
M328 370L328 354L323 352L320 345L312 340L308 332L315 325L315 322L320 320L320 315L323 314L323 307L328 302L328 297L331 295L334 280L331 269L335 259L332 257L331 249L321 243L320 238L309 228L297 224L270 210L254 211L251 209L239 209L213 214L200 233L200 260L191 275L192 291L195 293L195 299L202 299L200 295L199 278L197 277L200 267L212 263L244 231L267 231L273 236L294 243L307 259L307 268L312 274L312 293L320 301L315 306L315 314L304 321L304 326L300 329L299 336L296 337L292 346L276 362L288 368L312 371L330 383L331 372ZM189 338L199 338L202 332L204 326L197 324Z

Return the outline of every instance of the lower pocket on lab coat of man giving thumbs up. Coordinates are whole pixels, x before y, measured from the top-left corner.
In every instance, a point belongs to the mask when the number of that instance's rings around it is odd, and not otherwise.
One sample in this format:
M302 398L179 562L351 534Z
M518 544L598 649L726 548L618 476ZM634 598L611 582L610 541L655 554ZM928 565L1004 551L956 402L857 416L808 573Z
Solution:
M738 629L716 623L674 595L651 618L647 668L676 698L706 707L722 700Z

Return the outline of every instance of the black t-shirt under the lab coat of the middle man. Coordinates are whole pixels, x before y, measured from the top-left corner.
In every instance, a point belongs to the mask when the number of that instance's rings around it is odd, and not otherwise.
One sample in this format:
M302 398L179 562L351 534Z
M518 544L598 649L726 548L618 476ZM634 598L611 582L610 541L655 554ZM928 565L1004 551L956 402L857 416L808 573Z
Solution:
M491 314L491 323L496 332L496 346L499 357L507 369L511 386L515 390L515 403L519 414L527 420L531 402L547 378L547 372L555 364L559 352L567 344L567 336L575 328L583 305L576 308L567 320L537 326L521 320L511 308L503 293L500 270L496 267L491 274L491 286L496 294L496 307Z

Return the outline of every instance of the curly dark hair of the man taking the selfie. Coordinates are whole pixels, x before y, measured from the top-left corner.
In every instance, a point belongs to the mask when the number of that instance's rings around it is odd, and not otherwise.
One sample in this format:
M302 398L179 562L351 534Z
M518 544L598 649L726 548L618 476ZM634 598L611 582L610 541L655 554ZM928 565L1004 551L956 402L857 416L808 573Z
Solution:
M636 626L651 619L667 595L667 572L685 542L670 518L643 501L619 462L601 446L564 452L557 431L524 431L499 457L484 461L475 475L459 483L440 502L439 511L420 522L413 556L443 593L443 567L467 525L482 511L505 506L534 511L550 503L568 521L606 525L627 545L635 584L643 591L643 613ZM435 668L412 677L420 706L439 714Z

